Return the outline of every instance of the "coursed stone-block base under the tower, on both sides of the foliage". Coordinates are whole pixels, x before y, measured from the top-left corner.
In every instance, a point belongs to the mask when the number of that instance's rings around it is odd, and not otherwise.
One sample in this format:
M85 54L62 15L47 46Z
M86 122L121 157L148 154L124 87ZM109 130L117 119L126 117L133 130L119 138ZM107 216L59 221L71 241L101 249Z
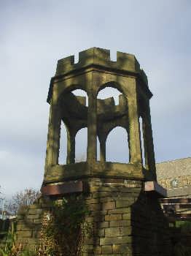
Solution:
M144 192L143 181L89 178L84 194L90 210L87 222L93 234L85 237L83 256L169 256L168 222L153 193ZM42 213L49 200L39 199L18 215L17 242L34 249L39 245Z

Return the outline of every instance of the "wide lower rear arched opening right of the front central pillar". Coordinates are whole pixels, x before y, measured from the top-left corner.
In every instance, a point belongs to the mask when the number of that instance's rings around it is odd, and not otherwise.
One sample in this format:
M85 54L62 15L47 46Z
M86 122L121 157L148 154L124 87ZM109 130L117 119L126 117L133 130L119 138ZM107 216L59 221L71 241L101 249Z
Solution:
M129 162L128 132L123 127L115 127L106 139L107 162Z

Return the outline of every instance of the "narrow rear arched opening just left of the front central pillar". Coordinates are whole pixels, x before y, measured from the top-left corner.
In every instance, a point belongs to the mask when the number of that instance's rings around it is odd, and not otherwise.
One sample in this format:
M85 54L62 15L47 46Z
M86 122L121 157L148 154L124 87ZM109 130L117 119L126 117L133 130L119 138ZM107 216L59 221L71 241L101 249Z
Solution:
M79 129L75 141L75 162L85 162L87 160L87 127Z

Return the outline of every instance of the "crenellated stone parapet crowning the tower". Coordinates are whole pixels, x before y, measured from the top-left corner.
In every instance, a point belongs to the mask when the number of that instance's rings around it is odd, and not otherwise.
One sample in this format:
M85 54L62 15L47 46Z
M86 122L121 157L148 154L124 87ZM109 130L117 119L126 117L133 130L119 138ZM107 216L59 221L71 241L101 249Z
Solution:
M147 75L143 69L140 69L140 64L133 54L117 51L117 61L111 61L110 50L95 47L79 52L77 64L74 64L74 55L58 60L55 75L65 75L68 72L89 67L90 65L138 73L144 83L148 84Z

